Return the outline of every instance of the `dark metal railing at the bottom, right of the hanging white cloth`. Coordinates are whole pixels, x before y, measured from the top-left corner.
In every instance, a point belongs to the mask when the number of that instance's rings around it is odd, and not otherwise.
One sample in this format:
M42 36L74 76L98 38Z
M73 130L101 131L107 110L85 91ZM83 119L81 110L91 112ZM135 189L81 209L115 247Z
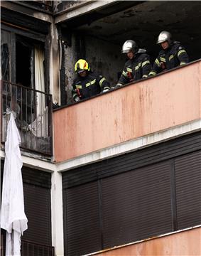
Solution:
M55 256L55 247L21 240L21 256Z

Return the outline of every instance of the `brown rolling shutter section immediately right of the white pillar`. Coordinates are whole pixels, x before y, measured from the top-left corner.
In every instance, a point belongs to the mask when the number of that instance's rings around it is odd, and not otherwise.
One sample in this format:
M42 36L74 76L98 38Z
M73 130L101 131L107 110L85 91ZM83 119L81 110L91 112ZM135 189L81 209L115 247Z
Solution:
M98 182L63 191L65 255L101 250Z

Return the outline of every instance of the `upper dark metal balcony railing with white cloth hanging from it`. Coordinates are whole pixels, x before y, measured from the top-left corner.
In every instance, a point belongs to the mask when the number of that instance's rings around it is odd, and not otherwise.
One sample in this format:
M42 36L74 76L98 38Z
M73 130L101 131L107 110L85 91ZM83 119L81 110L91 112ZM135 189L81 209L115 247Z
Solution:
M21 148L52 155L52 96L1 81L1 142L6 142L9 112L21 134Z

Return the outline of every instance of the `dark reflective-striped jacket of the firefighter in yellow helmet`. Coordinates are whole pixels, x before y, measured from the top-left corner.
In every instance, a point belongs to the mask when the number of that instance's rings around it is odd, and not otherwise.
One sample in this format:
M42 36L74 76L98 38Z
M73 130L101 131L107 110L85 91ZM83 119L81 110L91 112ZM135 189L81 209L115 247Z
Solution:
M110 89L109 82L102 76L92 71L85 78L77 77L72 84L72 97L80 100L99 94L104 89Z

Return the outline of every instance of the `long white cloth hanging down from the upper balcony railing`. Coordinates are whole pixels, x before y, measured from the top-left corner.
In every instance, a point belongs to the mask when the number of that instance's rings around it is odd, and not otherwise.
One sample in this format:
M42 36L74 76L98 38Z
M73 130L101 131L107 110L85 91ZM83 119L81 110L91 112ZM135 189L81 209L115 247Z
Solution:
M21 235L27 229L28 222L24 213L20 143L21 137L11 112L5 144L1 200L1 228L6 230L6 255L9 256L21 255Z

